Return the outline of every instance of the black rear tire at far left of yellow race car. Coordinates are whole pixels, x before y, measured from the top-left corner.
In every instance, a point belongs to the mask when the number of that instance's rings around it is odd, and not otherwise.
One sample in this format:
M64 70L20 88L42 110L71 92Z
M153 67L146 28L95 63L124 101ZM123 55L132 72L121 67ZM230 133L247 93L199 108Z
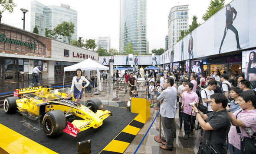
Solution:
M7 97L3 101L3 109L7 114L15 113L17 110L16 100L20 99L19 97Z

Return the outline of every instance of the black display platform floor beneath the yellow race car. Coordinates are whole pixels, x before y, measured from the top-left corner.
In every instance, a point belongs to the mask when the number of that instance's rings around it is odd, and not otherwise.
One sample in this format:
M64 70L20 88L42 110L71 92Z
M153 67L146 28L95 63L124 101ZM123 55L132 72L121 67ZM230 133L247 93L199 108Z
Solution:
M0 110L0 123L59 154L77 154L77 142L91 139L92 154L98 154L138 115L125 108L111 106L103 106L103 108L111 111L113 116L105 119L103 125L97 129L79 132L77 137L62 132L55 138L49 138L44 134L43 129L34 132L23 126L20 123L21 114L6 114L4 110Z

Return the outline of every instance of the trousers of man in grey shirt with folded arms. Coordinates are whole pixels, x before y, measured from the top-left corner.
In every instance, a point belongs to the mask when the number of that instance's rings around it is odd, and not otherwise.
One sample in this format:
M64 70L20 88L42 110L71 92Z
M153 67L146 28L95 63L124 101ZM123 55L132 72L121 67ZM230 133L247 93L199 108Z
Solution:
M161 116L161 122L164 129L166 147L172 149L174 142L174 118L167 118Z

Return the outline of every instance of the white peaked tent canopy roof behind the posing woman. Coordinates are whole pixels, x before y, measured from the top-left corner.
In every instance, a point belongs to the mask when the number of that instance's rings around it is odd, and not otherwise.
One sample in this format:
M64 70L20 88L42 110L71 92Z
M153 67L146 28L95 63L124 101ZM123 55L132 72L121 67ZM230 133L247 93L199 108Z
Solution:
M93 71L93 70L109 70L109 67L104 66L100 63L95 62L91 58L84 60L80 63L64 67L65 71L75 71L76 69L81 69L82 71Z

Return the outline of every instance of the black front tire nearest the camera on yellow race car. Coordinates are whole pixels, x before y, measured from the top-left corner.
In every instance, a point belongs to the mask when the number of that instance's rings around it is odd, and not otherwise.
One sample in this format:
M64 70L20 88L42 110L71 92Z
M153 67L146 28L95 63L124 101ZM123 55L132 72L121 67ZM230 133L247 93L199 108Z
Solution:
M61 110L47 112L43 117L43 132L49 137L54 137L66 128L66 123L66 116Z

